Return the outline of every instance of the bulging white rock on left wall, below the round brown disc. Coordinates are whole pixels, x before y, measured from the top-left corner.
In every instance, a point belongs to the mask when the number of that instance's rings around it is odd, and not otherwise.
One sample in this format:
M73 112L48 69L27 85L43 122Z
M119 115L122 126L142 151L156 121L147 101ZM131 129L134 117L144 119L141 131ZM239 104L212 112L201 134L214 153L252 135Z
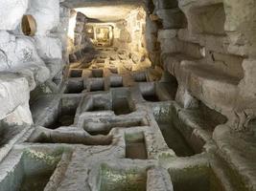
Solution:
M0 32L0 50L1 72L24 74L31 89L49 78L50 72L36 53L31 37L15 37L9 32Z

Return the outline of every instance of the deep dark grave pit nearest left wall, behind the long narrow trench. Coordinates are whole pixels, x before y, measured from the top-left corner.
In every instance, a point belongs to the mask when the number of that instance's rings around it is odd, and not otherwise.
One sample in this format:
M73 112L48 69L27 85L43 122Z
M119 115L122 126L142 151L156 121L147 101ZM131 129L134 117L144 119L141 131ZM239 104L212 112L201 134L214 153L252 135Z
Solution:
M61 126L70 126L74 123L76 111L80 104L81 96L62 97L54 108L52 117L45 122L45 127L57 129Z

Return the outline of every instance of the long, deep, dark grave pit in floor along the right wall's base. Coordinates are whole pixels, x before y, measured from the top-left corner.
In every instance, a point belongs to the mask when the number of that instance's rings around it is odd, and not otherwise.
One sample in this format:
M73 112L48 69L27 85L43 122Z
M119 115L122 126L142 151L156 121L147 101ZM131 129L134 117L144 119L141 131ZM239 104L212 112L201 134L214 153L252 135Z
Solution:
M175 106L155 106L153 114L168 147L177 157L191 157L203 151L205 141L194 135L194 121L183 120Z

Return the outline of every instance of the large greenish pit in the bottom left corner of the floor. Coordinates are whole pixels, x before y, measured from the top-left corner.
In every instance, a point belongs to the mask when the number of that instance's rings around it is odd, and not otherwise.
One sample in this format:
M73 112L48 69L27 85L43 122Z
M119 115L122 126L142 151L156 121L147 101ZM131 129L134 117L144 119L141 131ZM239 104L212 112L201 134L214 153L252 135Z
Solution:
M0 182L1 191L43 191L53 175L62 153L27 150L13 172Z

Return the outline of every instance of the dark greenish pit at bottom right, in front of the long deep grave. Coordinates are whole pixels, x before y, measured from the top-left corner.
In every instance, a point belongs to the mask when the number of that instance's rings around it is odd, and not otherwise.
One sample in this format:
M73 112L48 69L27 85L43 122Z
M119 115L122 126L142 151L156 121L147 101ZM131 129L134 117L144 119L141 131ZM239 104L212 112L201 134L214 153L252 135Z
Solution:
M209 166L169 169L175 191L224 191L221 181Z

